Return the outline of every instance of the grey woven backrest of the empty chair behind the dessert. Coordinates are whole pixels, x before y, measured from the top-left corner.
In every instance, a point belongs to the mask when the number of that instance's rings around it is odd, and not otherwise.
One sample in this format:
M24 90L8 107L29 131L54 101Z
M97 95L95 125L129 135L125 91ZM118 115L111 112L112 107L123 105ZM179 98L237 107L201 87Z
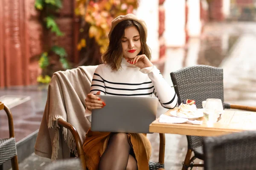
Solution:
M197 108L208 98L224 102L223 70L208 65L195 65L171 73L179 105L183 100L195 99Z

